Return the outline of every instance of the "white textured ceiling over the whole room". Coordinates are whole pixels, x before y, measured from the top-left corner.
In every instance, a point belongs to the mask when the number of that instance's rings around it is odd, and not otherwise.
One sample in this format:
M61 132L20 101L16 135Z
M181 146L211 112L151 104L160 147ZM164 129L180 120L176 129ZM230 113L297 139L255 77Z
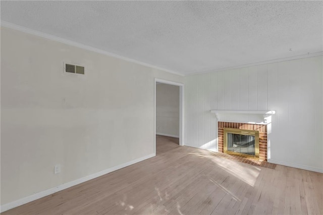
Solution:
M190 74L322 51L322 7L321 1L1 1L1 20Z

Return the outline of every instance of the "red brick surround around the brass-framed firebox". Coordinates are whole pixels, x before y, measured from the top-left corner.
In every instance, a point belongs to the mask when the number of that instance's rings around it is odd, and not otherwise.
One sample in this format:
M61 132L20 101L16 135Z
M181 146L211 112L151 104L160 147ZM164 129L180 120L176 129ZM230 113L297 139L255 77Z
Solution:
M267 161L267 125L218 122L218 150L223 153L223 129L238 128L259 131L259 160Z

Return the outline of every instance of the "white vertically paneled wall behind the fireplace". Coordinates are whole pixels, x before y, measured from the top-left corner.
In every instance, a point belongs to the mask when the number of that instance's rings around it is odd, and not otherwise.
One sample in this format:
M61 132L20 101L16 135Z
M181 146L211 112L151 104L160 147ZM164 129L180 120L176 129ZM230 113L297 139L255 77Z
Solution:
M322 172L322 73L318 56L186 76L185 145L217 147L210 110L276 110L268 134L270 162Z

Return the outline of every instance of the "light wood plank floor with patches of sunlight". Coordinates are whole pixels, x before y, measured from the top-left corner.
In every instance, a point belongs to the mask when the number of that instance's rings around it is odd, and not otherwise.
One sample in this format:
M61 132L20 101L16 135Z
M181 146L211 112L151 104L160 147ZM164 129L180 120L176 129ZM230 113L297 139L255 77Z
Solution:
M323 214L323 174L255 167L164 136L156 151L3 214Z

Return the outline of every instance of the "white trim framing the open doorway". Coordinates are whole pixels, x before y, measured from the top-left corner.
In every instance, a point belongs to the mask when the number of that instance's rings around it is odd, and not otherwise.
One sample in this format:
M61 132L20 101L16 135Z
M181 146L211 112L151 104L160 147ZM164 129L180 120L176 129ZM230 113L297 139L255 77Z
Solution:
M156 83L170 84L180 88L180 145L184 145L184 84L155 78L154 80L154 153L156 154Z

